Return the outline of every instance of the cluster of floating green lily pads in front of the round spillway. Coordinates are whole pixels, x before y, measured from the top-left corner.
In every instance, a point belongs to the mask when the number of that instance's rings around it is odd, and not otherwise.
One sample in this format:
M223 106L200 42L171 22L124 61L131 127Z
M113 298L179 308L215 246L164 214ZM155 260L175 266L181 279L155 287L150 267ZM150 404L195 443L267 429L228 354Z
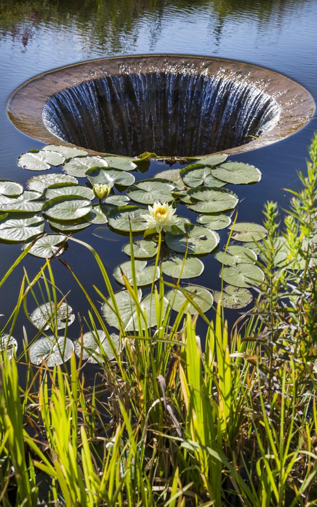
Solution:
M0 181L0 241L21 242L23 248L30 247L31 255L51 258L62 253L68 235L92 224L109 227L120 234L131 230L135 235L143 234L142 239L136 239L133 243L136 282L138 287L143 287L160 276L160 269L153 263L148 264L156 256L158 248L157 231L155 228L149 229L146 219L148 206L161 203L177 208L178 204L182 204L197 213L196 221L191 223L187 218L178 216L177 225L169 227L167 232L163 229L162 239L166 246L164 258L161 259L163 274L174 279L201 275L204 264L199 256L215 252L220 242L217 231L228 228L232 231L234 244L230 244L226 251L216 252L216 259L222 265L223 280L227 283L224 291L212 293L203 286L193 284L187 285L186 289L202 311L207 311L214 300L220 299L227 308L248 305L252 301L249 288L261 284L264 279L263 271L256 265L256 242L265 238L266 230L254 223L237 222L231 225L231 215L239 198L225 186L257 183L261 179L261 172L249 164L227 162L228 156L221 154L201 157L199 160L168 159L168 163L179 161L190 162L190 165L182 169L165 170L154 178L135 181L135 171L139 169L144 172L151 160L156 158L151 153L136 158L89 156L77 148L53 145L22 154L18 158L18 165L24 169L46 171L51 166L62 165L62 171L33 176L27 183L27 190L19 183ZM79 184L77 178L85 178L84 185ZM108 185L112 191L104 199L96 199L94 185ZM114 189L120 193L115 194ZM45 232L47 226L50 231ZM129 243L124 245L123 252L131 255ZM132 280L130 261L114 270L115 279L122 285L123 274L129 281ZM135 302L128 291L117 292L115 298L125 330L137 330ZM182 292L173 289L165 295L164 305L167 308L170 303L172 309L178 311L185 299ZM148 324L154 325L154 298L148 295L142 299L139 289L139 301L150 316ZM67 308L67 315L71 315L71 309ZM195 313L194 305L189 305L188 310ZM51 320L48 308L38 311L46 321ZM69 315L68 325L71 323ZM104 303L103 315L109 325L119 329L111 300ZM104 342L101 331L98 335L99 343ZM91 333L87 334L85 340L88 340L89 348L96 351L97 345L93 347L92 343L96 344L98 340ZM117 340L117 335L114 335L114 340ZM84 346L88 347L86 343ZM71 340L66 345L64 342L64 360L73 349ZM38 340L30 347L31 361L41 361L45 351L50 358L53 356L54 364L57 364L58 358L62 362L60 344L54 343L51 338ZM79 353L78 344L75 351ZM94 359L92 355L90 360Z

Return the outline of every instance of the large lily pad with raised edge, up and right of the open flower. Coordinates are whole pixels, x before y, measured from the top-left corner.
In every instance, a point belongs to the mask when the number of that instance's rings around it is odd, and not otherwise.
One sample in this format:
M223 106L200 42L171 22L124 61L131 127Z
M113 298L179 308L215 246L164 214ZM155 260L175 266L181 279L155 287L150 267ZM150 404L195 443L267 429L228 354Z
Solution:
M238 203L238 196L228 189L211 189L198 187L187 191L186 196L181 200L187 206L198 213L215 213L235 208Z

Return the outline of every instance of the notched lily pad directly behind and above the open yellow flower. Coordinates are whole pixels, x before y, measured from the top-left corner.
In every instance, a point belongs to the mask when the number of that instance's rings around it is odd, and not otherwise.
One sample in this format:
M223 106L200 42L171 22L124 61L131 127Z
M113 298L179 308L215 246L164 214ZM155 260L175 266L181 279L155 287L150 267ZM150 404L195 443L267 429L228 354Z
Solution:
M153 178L136 182L127 190L127 195L132 201L140 204L153 204L154 202L171 202L174 200L171 191L174 184L168 180Z

